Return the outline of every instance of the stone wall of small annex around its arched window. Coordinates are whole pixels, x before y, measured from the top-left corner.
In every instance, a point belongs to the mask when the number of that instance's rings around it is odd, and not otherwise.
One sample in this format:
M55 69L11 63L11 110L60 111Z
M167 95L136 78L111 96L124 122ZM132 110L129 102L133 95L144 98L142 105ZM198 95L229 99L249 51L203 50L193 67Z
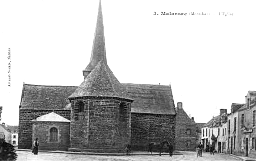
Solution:
M50 140L50 129L57 128L58 139L55 142ZM33 122L33 136L39 139L39 150L63 150L69 147L70 122Z

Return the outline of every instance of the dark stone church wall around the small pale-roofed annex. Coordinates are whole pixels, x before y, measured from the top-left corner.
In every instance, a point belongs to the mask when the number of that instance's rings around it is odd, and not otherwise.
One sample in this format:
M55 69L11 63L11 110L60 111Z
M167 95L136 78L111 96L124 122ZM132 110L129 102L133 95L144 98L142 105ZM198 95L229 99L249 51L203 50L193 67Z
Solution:
M47 113L55 112L60 116L70 120L70 110L33 110L33 109L20 109L19 111L19 149L32 148L32 121L37 117Z

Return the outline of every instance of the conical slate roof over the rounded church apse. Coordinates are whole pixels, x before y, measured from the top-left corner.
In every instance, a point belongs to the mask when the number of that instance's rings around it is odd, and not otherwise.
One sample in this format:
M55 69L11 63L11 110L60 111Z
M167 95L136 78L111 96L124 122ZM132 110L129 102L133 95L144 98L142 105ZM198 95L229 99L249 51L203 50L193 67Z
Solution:
M130 99L126 90L104 61L100 61L77 89L68 97L104 96ZM130 99L131 100L131 99Z

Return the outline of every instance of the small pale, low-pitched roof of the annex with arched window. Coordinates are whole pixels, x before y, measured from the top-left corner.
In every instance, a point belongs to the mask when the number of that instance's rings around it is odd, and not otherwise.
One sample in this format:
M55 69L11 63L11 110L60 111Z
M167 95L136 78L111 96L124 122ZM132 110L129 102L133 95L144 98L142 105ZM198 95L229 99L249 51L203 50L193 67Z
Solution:
M43 116L37 117L36 119L32 121L38 121L38 122L70 122L68 119L58 115L55 112L47 113Z

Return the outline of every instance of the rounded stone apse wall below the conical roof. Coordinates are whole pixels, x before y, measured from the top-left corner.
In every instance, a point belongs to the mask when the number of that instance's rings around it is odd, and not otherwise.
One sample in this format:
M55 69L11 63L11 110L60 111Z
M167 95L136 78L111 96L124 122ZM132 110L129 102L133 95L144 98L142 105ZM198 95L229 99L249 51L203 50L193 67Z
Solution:
M76 113L83 102L82 112ZM119 105L124 103L122 120ZM71 100L70 150L122 151L131 139L131 102L111 98ZM78 114L78 120L75 119ZM111 149L111 150L110 150ZM76 151L77 151L76 150ZM95 151L96 150L96 151ZM83 151L83 150L82 150Z

